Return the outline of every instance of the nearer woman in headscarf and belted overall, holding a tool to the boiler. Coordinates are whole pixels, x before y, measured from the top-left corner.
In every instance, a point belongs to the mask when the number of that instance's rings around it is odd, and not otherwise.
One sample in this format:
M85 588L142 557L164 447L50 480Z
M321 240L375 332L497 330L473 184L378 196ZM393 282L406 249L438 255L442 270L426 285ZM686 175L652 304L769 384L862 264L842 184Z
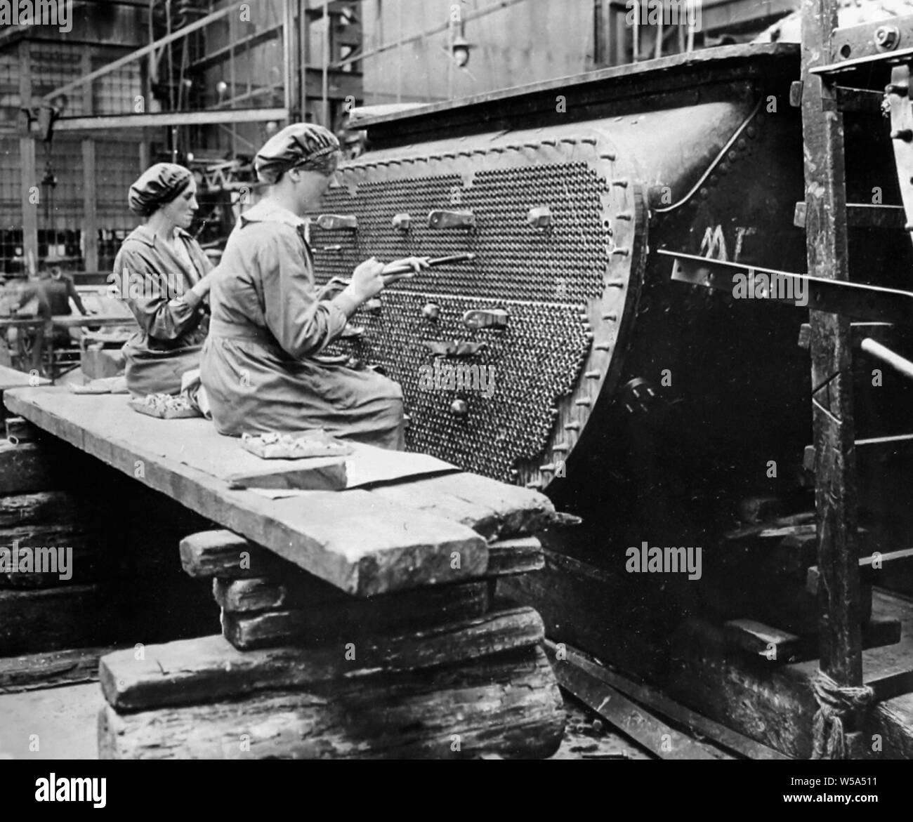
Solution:
M310 123L279 131L257 153L257 177L270 188L228 238L201 366L219 432L322 428L402 447L399 385L320 359L355 310L384 286L383 265L372 257L335 297L323 298L326 290L315 288L303 217L319 208L339 158L332 132Z

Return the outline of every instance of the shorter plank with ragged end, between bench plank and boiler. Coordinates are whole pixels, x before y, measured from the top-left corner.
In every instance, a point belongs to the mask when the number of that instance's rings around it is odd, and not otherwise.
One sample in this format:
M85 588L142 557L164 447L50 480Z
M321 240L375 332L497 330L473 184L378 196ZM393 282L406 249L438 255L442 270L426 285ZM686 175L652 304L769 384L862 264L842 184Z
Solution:
M489 540L530 534L549 525L554 515L544 494L472 473L384 485L371 493L454 519Z

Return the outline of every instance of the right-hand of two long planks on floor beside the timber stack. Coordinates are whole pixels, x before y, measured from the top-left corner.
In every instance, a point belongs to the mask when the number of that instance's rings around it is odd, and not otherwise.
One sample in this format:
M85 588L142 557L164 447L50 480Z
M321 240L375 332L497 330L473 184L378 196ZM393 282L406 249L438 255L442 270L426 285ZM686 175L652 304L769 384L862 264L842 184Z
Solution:
M555 658L555 645L553 642L546 640L546 648L550 659ZM723 745L737 754L748 757L749 759L788 759L779 751L754 742L747 736L737 734L735 731L713 722L706 716L689 711L684 705L669 699L665 693L651 688L649 685L632 682L616 671L610 671L604 665L600 665L588 657L582 651L565 647L563 656L567 664L576 665L582 671L592 674L597 679L602 680L607 685L613 687L616 691L624 693L625 696L640 702L651 711L658 712L677 725L686 727L692 734L699 737L706 737L716 744Z

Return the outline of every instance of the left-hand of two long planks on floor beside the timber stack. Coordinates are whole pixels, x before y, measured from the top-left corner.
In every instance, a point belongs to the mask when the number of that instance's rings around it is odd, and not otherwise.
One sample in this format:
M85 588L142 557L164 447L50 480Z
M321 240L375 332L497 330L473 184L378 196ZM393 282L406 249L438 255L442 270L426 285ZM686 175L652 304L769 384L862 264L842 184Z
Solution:
M550 646L554 650L554 646ZM731 759L662 722L588 671L551 658L561 687L660 759Z

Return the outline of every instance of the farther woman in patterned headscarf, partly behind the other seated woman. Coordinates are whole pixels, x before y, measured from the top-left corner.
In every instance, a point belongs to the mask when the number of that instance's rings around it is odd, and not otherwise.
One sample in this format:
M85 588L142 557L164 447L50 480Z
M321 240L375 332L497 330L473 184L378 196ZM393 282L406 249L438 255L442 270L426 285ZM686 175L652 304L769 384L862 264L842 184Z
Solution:
M184 374L199 368L209 328L212 264L186 231L197 210L194 175L156 163L131 185L128 202L145 222L114 260L115 284L140 324L123 347L127 388L141 397L178 394Z

